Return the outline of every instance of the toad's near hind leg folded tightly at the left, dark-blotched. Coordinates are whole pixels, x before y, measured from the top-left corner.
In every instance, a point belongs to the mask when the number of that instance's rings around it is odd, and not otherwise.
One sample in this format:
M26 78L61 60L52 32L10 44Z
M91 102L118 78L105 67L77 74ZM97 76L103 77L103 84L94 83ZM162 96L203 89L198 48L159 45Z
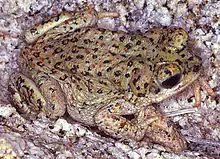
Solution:
M59 84L43 74L35 82L21 73L11 75L9 91L17 110L27 118L34 118L40 112L51 118L62 116L66 101Z

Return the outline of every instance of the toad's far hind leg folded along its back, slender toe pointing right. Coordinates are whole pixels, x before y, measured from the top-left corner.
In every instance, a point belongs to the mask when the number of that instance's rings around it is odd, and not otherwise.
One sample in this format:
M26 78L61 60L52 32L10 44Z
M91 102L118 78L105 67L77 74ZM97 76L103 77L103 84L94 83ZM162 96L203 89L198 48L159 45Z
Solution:
M116 12L96 12L92 6L74 12L62 12L54 17L47 18L41 24L34 26L25 33L25 40L28 43L35 42L40 36L45 34L44 40L62 35L63 33L73 32L76 29L93 26L99 19L119 17Z

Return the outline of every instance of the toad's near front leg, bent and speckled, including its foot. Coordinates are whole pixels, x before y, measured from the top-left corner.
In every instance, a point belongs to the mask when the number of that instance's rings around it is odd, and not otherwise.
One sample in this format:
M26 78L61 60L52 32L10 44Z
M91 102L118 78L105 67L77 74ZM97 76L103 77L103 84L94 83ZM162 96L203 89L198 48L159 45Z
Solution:
M131 114L138 115L133 120L126 119L125 116ZM135 106L131 103L116 100L96 114L95 122L100 130L116 138L136 141L149 138L175 152L186 148L185 139L152 106L137 113Z

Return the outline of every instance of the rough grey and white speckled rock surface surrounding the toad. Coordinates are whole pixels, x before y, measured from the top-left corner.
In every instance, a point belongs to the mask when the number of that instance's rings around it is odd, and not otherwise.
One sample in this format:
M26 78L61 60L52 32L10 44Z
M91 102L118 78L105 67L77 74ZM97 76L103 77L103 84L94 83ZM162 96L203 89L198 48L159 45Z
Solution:
M154 26L181 26L196 41L204 73L217 94L202 92L201 107L193 108L192 89L158 105L179 125L189 142L179 154L151 144L116 141L68 118L45 117L28 121L8 100L7 81L18 71L17 55L24 46L23 32L48 15L74 10L80 0L0 0L0 158L220 158L220 1L218 0L91 0L96 10L116 11L118 19L103 19L102 28L146 32ZM181 110L185 112L178 115Z

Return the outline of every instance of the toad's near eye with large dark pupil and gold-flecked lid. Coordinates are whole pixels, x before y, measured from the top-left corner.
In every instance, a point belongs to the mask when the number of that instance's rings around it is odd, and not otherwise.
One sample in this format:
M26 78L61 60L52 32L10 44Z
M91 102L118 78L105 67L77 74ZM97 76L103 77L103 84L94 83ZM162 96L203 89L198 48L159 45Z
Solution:
M157 81L161 87L169 89L176 86L182 77L180 67L175 64L163 64L158 68Z

